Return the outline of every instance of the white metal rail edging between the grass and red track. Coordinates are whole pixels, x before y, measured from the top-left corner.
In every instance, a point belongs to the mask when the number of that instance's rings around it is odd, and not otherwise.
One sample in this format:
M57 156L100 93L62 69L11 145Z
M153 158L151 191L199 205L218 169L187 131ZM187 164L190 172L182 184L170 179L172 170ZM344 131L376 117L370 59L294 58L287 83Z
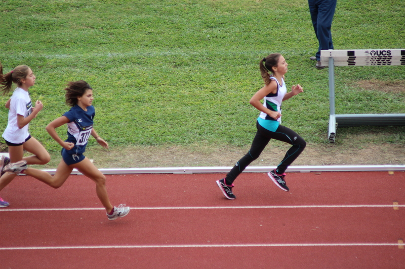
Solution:
M152 168L106 168L99 169L105 175L117 174L201 174L228 173L232 167L152 167ZM244 173L267 173L275 167L247 167ZM51 175L55 169L43 170ZM360 171L405 171L405 165L367 165L367 166L290 166L287 172L360 172ZM73 170L71 175L82 175Z

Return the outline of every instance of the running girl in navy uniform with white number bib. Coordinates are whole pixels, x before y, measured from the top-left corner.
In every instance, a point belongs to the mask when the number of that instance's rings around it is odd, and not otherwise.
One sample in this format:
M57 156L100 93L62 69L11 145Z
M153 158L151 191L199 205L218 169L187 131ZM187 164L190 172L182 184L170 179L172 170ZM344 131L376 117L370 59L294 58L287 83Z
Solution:
M94 99L93 89L86 81L80 80L69 82L65 91L66 103L71 106L71 109L46 127L52 138L62 146L62 160L56 169L55 176L51 176L45 171L27 168L24 160L7 165L4 170L23 173L53 188L59 188L75 168L96 183L96 193L107 211L108 219L115 220L124 217L129 213L130 208L125 207L125 204L120 204L118 207L111 205L105 186L105 176L90 162L89 158L83 155L90 135L101 146L108 148L107 142L93 128L95 116L94 106L92 105ZM55 130L64 124L67 125L67 140L65 141L59 137Z

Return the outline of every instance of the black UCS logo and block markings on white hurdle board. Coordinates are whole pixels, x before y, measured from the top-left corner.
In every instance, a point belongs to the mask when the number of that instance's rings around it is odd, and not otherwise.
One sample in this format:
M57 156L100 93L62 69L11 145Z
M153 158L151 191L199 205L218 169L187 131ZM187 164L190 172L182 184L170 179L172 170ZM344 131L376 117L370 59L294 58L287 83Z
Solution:
M356 51L347 51L347 65L356 65ZM364 54L363 54L364 53ZM390 66L392 64L391 50L364 50L361 56L366 56L365 64L370 66ZM401 50L400 65L405 65L405 50ZM363 65L363 64L362 64Z

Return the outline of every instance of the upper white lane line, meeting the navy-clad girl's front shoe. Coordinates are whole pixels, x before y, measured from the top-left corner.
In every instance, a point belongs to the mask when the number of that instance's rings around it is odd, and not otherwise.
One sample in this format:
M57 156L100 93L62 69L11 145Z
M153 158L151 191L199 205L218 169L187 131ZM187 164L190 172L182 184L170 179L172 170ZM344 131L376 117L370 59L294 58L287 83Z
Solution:
M355 204L355 205L253 205L253 206L173 206L173 207L130 207L132 210L173 210L173 209L259 209L259 208L361 208L361 207L405 207L405 204ZM3 208L2 211L74 211L105 210L102 207L89 208Z

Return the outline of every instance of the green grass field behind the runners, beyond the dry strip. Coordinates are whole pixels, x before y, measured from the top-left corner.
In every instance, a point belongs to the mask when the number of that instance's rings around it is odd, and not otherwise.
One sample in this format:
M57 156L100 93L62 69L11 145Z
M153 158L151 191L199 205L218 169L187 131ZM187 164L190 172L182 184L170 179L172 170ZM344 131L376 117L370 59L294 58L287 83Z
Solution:
M94 88L95 129L111 146L249 145L258 111L248 101L263 85L258 62L272 52L289 63L288 89L304 87L284 103L283 124L328 143L328 69L309 60L317 40L306 0L6 0L0 14L4 72L26 64L36 75L31 99L41 96L44 111L30 131L50 151L60 146L45 126L68 110L71 80ZM339 0L335 49L405 48L404 14L402 0ZM405 67L336 68L336 113L405 112L403 87L358 83L370 80L403 86ZM360 133L380 135L359 143L405 145L405 127L341 128L336 145Z

